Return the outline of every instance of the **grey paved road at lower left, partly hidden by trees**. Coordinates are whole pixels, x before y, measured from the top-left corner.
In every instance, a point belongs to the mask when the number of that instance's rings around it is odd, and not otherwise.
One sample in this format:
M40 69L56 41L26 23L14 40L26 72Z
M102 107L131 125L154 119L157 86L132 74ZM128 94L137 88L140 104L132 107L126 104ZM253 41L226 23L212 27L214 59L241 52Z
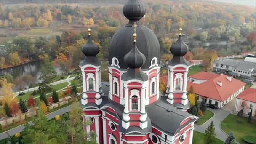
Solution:
M48 118L48 120L51 120L56 115L63 115L64 113L69 112L72 107L73 107L73 105L71 104L71 105L69 105L67 107L64 107L62 109L56 110L54 112L51 112L50 114L47 115L47 118ZM32 122L29 122L29 124L31 125ZM8 131L5 131L3 133L0 133L0 140L8 138L10 136L13 136L13 135L15 135L15 133L20 133L20 132L23 131L23 129L24 129L24 125L20 125L20 126L18 126L16 128L13 128L11 130L8 130Z

